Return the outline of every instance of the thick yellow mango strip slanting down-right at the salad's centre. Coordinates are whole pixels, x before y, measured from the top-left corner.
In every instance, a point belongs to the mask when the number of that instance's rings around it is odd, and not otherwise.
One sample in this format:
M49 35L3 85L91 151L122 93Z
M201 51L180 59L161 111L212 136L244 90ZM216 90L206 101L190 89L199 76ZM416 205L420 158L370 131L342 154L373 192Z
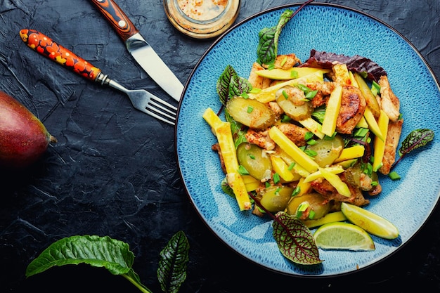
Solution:
M285 152L290 155L292 159L301 167L306 169L308 172L313 173L318 170L318 164L309 157L305 152L303 152L293 141L291 141L285 134L283 134L280 129L273 126L269 131L269 136L272 140Z

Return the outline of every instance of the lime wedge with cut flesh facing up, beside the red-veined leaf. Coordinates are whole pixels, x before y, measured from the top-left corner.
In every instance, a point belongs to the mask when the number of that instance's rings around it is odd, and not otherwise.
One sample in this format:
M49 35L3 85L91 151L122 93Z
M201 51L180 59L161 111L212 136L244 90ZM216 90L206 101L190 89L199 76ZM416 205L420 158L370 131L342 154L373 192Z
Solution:
M316 246L322 249L369 251L375 249L371 236L362 228L344 222L326 223L313 234Z

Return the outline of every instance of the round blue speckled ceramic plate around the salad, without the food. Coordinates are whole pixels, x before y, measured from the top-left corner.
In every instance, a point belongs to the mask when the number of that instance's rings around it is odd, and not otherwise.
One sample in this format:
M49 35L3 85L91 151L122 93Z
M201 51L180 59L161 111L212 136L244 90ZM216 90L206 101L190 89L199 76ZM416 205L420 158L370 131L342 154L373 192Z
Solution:
M401 141L413 129L429 128L437 134L425 148L405 157L394 169L402 179L380 178L382 193L370 199L366 209L382 215L399 228L400 237L383 240L373 236L373 252L320 249L323 263L297 266L285 259L272 236L271 219L239 211L225 195L219 158L211 150L216 143L202 118L208 108L221 108L216 81L226 65L248 77L257 60L258 32L276 25L286 8L264 11L235 25L209 48L193 70L179 108L176 152L183 183L198 214L226 245L245 258L279 273L331 276L368 268L394 254L422 228L439 201L440 119L439 84L420 53L408 40L380 20L342 6L306 6L283 28L278 53L309 58L311 48L347 56L361 55L387 71L389 82L401 100L404 123ZM375 36L375 38L373 38ZM221 119L224 116L221 115ZM400 143L399 143L400 146Z

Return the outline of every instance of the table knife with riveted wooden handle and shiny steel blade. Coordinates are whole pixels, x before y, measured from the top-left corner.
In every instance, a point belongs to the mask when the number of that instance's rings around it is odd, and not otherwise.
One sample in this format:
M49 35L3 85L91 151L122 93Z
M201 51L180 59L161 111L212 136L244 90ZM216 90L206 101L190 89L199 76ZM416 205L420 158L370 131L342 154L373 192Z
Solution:
M113 0L92 0L92 3L103 13L110 25L124 41L127 50L143 70L174 100L179 101L183 92L183 84L168 68L162 59L153 50L150 44L143 39L133 22Z

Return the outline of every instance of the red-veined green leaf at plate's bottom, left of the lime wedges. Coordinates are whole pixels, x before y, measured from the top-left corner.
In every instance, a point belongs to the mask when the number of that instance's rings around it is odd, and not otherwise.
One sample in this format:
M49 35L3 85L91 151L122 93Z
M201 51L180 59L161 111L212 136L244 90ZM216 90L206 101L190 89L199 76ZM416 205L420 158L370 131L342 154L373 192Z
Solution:
M309 228L304 223L283 211L273 221L273 237L280 252L294 263L312 265L321 263L318 247Z

